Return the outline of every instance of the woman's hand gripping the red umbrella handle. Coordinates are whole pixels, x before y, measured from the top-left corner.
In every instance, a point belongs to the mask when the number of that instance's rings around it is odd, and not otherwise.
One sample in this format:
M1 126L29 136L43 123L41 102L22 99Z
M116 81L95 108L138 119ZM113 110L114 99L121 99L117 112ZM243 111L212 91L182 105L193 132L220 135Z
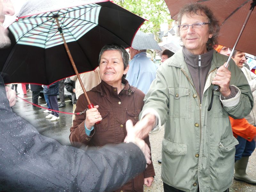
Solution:
M99 105L86 111L85 125L88 130L91 130L92 126L98 121L102 120L100 112L98 111Z

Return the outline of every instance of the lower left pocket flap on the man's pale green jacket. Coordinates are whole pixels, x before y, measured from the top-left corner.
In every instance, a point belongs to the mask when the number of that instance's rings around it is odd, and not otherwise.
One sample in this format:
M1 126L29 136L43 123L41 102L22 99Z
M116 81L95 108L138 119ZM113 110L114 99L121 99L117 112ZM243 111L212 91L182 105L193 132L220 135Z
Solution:
M183 143L174 143L164 139L162 142L163 150L171 156L186 155L188 152L187 145Z

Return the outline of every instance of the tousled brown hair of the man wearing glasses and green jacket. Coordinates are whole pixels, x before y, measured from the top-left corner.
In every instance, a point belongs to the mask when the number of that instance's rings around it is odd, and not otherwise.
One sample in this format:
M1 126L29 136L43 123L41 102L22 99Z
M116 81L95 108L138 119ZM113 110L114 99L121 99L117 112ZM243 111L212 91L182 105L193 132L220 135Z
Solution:
M209 34L212 34L212 38L209 38L207 41L207 50L209 50L214 45L218 44L218 36L220 32L220 25L219 21L216 19L216 17L213 15L212 11L203 4L198 3L192 3L192 4L186 4L178 13L178 25L181 23L181 18L184 14L187 14L188 16L191 15L206 15L208 17L209 24ZM180 29L177 30L177 35L180 36Z

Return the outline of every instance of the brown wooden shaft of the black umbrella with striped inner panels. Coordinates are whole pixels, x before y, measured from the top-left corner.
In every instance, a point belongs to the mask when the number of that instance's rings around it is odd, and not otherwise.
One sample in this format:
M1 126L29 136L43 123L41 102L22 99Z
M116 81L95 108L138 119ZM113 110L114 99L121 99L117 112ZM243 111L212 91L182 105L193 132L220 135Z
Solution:
M58 21L57 17L55 17L55 20L56 20L57 25L58 25L58 27L59 27L60 35L61 35L62 40L63 40L63 42L64 42L64 46L65 46L66 51L67 51L67 53L68 53L68 57L69 57L69 59L70 59L70 61L71 61L71 64L72 64L72 66L73 66L73 68L74 68L74 70L75 70L75 72L76 72L76 76L77 76L77 78L78 78L78 80L79 80L79 83L80 83L80 85L81 85L81 87L82 87L82 89L83 89L85 99L86 99L87 102L88 102L88 107L92 105L91 108L93 108L93 104L91 103L91 101L90 101L89 97L87 96L87 93L86 93L86 91L85 91L85 89L84 89L84 84L83 84L83 82L82 82L82 80L81 80L81 78L80 78L80 76L79 76L79 73L78 73L77 68L76 68L76 64L75 64L75 62L74 62L74 60L73 60L73 57L72 57L72 55L71 55L71 53L70 53L70 51L69 51L68 44L66 43L66 40L65 40L64 35L63 35L63 33L62 33L62 30L61 30L61 28L60 28L60 24L59 24L59 21ZM90 108L90 107L89 107L89 108Z

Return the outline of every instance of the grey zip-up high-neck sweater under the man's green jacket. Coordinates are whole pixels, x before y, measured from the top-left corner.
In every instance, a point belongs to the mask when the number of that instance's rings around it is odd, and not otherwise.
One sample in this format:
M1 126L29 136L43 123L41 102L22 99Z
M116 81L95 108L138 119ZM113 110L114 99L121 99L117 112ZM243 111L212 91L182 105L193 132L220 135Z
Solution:
M213 49L202 55L194 55L185 48L182 48L185 62L188 66L188 70L193 80L193 84L197 93L200 95L200 101L202 100L204 85L206 77L211 68ZM200 62L201 60L201 62Z

